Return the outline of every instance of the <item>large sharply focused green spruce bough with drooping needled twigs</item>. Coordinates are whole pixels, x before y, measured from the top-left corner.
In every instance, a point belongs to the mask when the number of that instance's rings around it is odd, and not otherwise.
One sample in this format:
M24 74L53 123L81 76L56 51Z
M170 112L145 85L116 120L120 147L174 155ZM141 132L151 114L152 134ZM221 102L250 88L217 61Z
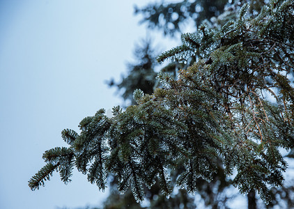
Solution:
M250 17L245 4L235 21L184 34L183 45L157 60L196 62L177 79L157 75L162 88L134 91L137 105L115 107L113 118L100 110L80 123L80 134L64 130L69 147L44 153L47 164L29 181L31 189L55 170L68 182L75 166L100 189L114 174L118 190L130 187L137 201L157 180L170 195L173 170L181 171L177 187L197 192L197 180L212 180L220 159L226 176L236 172L241 193L256 191L270 203L269 187L281 186L286 170L279 148L294 146L293 7L272 0Z

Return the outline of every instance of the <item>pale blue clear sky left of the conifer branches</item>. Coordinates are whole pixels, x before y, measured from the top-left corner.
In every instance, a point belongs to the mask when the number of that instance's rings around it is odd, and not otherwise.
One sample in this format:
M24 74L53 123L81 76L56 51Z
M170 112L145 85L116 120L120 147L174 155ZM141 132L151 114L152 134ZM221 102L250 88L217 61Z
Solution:
M59 173L34 192L28 180L42 153L67 146L61 131L122 100L108 88L132 61L146 26L134 17L136 0L0 1L0 208L98 206L107 196L74 171ZM174 45L173 45L174 46Z

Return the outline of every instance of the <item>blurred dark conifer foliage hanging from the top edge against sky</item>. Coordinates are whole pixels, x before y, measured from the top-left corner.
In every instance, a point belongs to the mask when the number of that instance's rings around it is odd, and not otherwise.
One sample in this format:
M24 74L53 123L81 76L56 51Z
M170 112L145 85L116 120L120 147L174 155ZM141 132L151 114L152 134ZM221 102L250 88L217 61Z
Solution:
M199 25L203 20L218 16L223 12L227 0L180 1L179 3L150 3L144 8L135 7L135 14L143 15L141 22L147 22L150 29L160 29L164 35L180 31L181 24L192 20Z

